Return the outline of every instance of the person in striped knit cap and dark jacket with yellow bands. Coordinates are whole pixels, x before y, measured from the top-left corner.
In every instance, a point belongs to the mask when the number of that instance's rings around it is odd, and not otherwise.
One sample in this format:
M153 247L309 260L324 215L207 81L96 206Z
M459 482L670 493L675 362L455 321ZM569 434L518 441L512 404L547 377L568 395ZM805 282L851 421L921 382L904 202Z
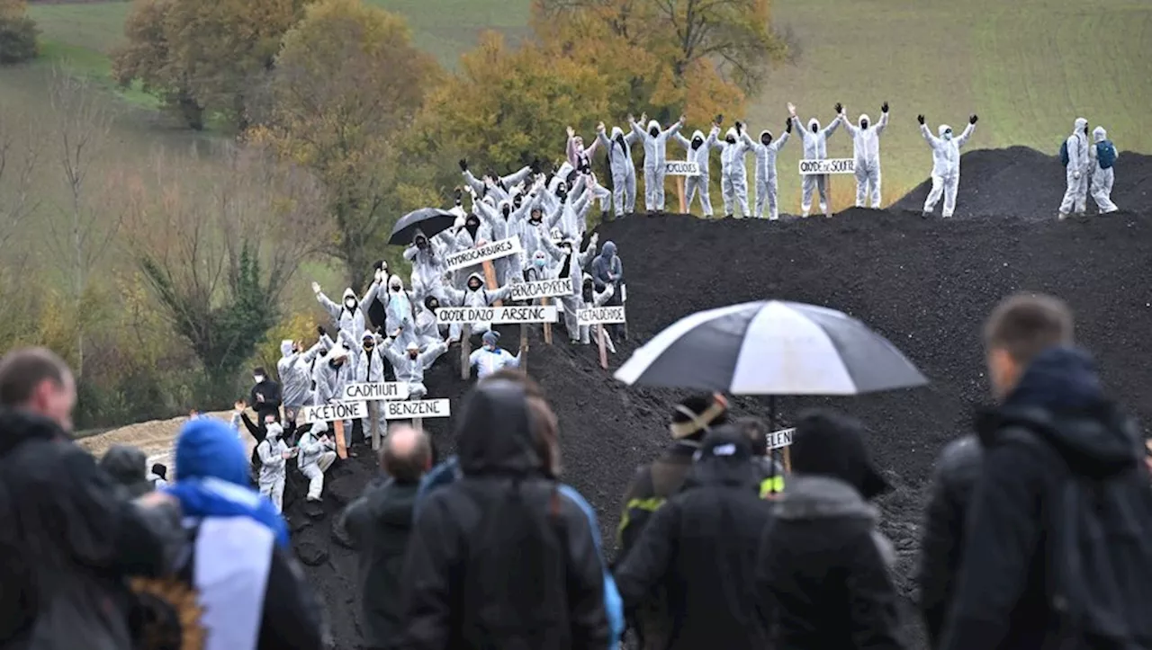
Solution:
M708 428L719 427L727 421L728 402L721 395L692 396L675 406L668 425L675 442L660 458L638 468L624 492L616 564L623 563L628 557L652 513L680 491L692 468L692 457L700 448L700 441ZM672 621L668 619L662 588L658 588L644 604L636 607L631 622L645 650L665 650L668 647Z

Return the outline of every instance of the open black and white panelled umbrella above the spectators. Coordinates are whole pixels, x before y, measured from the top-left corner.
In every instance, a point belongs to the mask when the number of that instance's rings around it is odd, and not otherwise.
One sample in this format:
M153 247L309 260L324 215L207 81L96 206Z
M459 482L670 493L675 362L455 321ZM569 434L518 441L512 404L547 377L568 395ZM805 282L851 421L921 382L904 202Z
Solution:
M626 384L730 395L859 395L924 385L896 346L841 312L765 300L685 316L616 370Z

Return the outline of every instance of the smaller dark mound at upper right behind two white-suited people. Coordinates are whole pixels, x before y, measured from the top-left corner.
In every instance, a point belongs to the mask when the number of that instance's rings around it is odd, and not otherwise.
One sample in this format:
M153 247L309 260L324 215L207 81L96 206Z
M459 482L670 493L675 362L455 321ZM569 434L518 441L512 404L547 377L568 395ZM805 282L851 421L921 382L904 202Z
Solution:
M1112 200L1120 209L1143 212L1152 207L1152 156L1123 152L1116 159L1115 170ZM1056 155L1020 146L972 151L961 156L953 217L1055 219L1064 188L1064 167ZM892 209L919 212L931 189L931 179L920 183ZM1089 212L1096 212L1091 197L1087 202ZM940 209L938 205L937 214Z

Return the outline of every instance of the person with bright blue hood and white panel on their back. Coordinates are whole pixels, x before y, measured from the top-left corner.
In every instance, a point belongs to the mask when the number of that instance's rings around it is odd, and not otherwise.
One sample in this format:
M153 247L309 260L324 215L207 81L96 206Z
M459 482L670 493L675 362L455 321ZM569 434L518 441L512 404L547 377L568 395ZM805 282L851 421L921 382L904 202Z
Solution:
M175 453L179 479L164 491L184 514L191 553L177 568L204 607L205 650L323 648L321 605L283 519L248 487L243 444L206 418L184 425Z

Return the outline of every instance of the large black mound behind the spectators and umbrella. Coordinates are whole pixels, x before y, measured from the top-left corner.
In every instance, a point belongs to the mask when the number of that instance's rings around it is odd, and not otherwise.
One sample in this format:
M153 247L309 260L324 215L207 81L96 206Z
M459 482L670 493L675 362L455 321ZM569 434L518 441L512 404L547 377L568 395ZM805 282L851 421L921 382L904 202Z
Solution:
M978 175L965 182L970 176ZM835 307L887 336L931 387L854 399L786 398L780 406L786 421L801 408L832 405L869 425L872 452L896 485L881 504L882 526L900 551L900 587L911 595L924 483L940 448L968 431L973 405L985 399L980 326L1001 297L1028 289L1067 299L1078 315L1078 337L1097 353L1115 396L1152 416L1152 366L1142 362L1152 338L1150 237L1152 223L1130 214L1063 223L923 220L869 209L776 223L630 216L600 229L601 242L617 244L629 282L631 341L611 365L619 367L638 343L684 315L765 298ZM515 345L515 329L505 341ZM457 398L467 390L457 359L452 351L430 370L432 396ZM620 497L635 467L667 444L669 406L682 393L623 387L600 369L594 347L569 346L563 336L551 347L533 337L529 372L560 416L566 480L597 508L612 549ZM737 414L766 415L763 399L734 405ZM450 451L448 423L426 422L440 449ZM332 522L373 475L369 456L332 471L319 518L294 497L303 494L298 473L289 483L294 544L302 559L316 563L306 571L326 599L338 648L356 647L359 612L355 555L334 538ZM918 630L909 634L923 645Z

